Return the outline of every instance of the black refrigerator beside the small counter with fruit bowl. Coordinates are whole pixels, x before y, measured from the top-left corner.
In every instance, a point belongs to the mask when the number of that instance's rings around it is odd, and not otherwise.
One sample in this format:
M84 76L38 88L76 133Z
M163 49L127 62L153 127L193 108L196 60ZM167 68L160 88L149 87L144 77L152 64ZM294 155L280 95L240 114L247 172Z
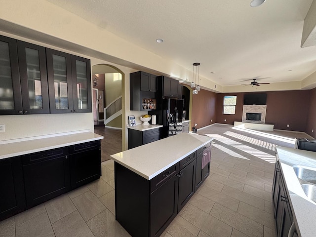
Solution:
M182 133L183 100L168 98L161 102L161 110L149 114L157 116L157 124L163 125L165 136Z

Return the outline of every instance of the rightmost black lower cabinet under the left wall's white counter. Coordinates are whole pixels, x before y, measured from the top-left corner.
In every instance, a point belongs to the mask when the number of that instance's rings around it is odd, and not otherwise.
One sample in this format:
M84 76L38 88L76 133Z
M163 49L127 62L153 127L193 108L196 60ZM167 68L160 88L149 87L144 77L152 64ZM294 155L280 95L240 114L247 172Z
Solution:
M71 188L75 189L101 176L100 141L71 146L70 177Z

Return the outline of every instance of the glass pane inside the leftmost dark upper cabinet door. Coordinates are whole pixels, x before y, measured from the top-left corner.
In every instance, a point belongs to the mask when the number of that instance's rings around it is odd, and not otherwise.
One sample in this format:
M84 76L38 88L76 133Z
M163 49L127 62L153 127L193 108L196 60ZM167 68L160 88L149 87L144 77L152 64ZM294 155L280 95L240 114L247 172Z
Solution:
M14 110L9 44L0 41L0 110Z

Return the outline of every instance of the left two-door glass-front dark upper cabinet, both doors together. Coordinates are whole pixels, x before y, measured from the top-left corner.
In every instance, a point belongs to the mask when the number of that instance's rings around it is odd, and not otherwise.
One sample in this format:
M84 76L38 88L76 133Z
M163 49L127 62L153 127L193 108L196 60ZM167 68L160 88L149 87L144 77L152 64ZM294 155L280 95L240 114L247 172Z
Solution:
M45 48L0 36L0 115L48 114Z

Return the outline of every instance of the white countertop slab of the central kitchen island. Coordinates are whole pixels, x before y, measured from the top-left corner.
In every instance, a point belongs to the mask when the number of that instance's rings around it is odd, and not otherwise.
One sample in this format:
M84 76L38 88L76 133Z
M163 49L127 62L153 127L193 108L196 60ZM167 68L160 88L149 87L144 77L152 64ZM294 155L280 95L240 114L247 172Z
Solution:
M213 138L180 133L112 155L112 159L145 179L152 179Z

